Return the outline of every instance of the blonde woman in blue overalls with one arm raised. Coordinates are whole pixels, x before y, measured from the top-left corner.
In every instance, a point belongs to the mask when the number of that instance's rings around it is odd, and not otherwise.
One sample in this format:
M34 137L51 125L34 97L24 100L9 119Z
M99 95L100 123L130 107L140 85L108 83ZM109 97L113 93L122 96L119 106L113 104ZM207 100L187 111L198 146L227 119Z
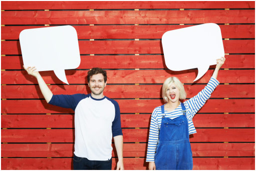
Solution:
M208 84L196 96L186 98L182 83L176 77L164 81L162 96L166 102L156 107L151 115L147 159L149 169L192 169L189 134L196 133L192 118L204 105L219 84L218 70L225 57L217 59L216 68Z

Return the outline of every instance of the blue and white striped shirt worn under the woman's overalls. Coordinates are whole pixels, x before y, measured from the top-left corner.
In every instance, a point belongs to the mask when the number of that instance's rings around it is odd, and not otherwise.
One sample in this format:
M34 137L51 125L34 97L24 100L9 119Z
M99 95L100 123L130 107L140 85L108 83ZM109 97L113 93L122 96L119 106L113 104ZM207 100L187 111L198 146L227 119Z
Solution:
M210 98L211 93L219 84L219 81L213 77L210 78L207 85L202 89L197 95L186 100L184 105L186 107L186 116L188 120L188 132L189 134L196 133L195 126L193 124L192 118L195 113L204 105L206 100ZM181 104L173 111L164 111L165 117L169 117L174 119L180 115L182 115ZM147 158L146 161L154 161L156 145L158 141L159 129L162 122L162 112L161 106L156 107L151 115L150 121L150 130L149 130L149 138L148 138L148 149L147 149Z

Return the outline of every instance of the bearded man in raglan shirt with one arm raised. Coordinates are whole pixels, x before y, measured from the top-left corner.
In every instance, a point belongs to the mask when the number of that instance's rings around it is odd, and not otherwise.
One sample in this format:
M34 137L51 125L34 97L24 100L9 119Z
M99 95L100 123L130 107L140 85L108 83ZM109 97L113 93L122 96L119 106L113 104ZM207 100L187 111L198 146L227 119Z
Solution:
M25 68L25 67L24 67ZM123 165L123 134L118 103L104 96L107 72L101 68L88 71L91 94L54 95L35 67L25 68L37 78L49 104L75 111L74 169L111 169L112 136L118 155L117 169Z

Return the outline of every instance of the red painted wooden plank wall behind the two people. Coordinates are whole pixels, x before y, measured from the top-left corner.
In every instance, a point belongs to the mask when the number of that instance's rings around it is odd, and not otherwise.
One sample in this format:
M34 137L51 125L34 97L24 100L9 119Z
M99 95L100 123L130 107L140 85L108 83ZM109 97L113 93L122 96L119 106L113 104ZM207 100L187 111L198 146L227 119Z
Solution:
M76 28L81 64L66 70L70 85L53 71L42 76L55 94L90 93L87 71L106 69L105 95L121 109L125 169L146 169L150 115L163 103L163 81L179 77L190 98L214 69L195 84L197 69L167 69L162 34L208 22L221 28L226 62L220 85L193 119L193 169L254 169L254 1L2 1L1 9L2 169L73 167L74 111L47 104L36 79L23 69L23 29ZM115 168L115 150L113 157Z

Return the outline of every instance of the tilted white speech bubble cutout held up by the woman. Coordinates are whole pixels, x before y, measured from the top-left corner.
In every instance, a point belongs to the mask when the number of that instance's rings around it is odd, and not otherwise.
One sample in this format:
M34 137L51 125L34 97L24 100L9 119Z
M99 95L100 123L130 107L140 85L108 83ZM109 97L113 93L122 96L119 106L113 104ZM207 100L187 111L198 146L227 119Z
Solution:
M162 36L166 66L174 71L198 68L194 81L224 56L220 28L215 23L205 23L167 31Z

